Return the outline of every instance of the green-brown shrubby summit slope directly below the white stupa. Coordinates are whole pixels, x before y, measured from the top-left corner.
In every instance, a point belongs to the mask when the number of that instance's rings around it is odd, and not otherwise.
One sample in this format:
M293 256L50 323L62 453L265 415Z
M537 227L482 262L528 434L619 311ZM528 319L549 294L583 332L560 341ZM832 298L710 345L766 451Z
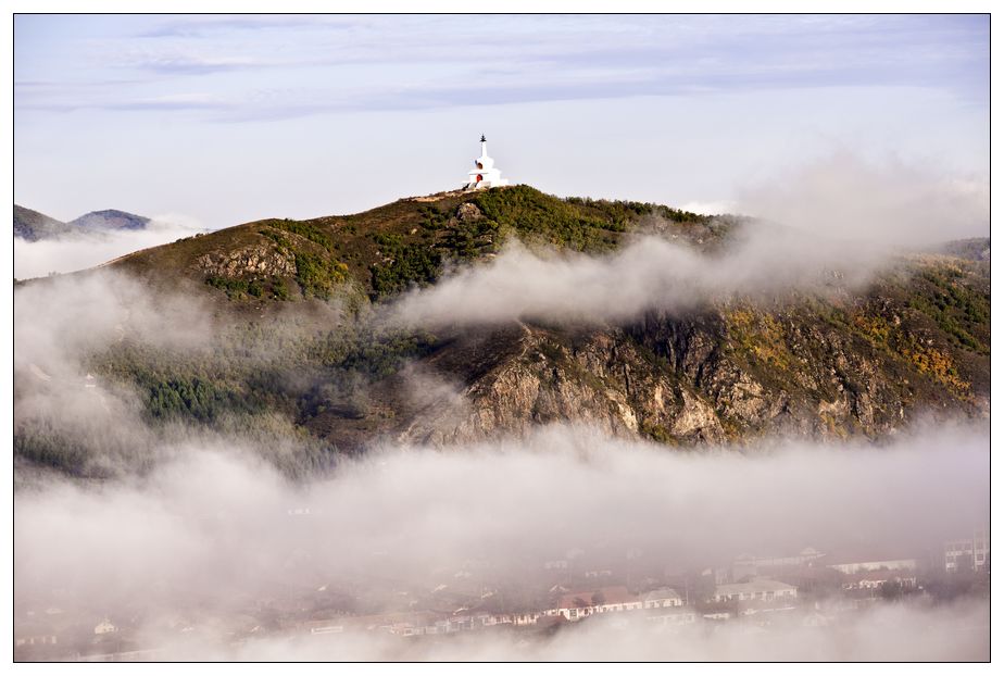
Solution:
M631 224L657 213L680 223L680 230L701 234L707 218L666 206L638 202L561 200L528 186L497 188L475 193L442 193L435 199L398 200L348 216L309 221L269 218L189 237L171 245L123 256L112 267L151 281L180 277L209 281L234 300L326 298L339 285L354 286L371 300L400 292L411 285L434 283L445 262L464 261L494 252L509 237L580 251L616 247ZM470 202L484 218L464 221L457 208ZM297 260L297 274L283 281L287 293L276 293L278 280L247 272L234 284L210 279L200 268L201 256L248 247L288 253ZM262 293L249 295L258 281ZM294 285L294 286L292 286Z

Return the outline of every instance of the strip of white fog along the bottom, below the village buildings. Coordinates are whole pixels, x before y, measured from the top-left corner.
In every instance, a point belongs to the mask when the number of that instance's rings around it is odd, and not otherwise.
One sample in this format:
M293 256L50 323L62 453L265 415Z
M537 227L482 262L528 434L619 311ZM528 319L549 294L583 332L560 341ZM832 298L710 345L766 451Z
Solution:
M160 659L251 661L520 661L520 662L965 662L989 660L990 606L981 601L926 608L875 608L837 627L780 630L718 626L660 630L637 617L598 617L554 636L456 636L409 643L374 634L256 639L224 647L178 641Z

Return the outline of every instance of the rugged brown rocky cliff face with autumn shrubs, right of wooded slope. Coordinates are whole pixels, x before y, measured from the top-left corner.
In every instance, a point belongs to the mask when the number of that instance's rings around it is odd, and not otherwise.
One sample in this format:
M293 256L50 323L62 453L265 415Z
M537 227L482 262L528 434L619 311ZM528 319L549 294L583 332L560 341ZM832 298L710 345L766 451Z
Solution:
M908 270L842 300L736 301L625 327L520 324L468 335L424 362L461 397L403 410L397 436L474 441L561 421L690 446L780 434L878 438L918 416L987 416L989 342L964 346L939 326L943 316L918 301L939 297L937 285L925 287L937 275ZM974 321L974 333L989 329Z

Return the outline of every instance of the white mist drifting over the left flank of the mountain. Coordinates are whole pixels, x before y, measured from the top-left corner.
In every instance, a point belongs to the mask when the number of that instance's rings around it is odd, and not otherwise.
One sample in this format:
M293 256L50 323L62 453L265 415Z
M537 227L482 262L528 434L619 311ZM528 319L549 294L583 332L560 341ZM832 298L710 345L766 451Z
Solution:
M190 442L238 443L289 474L316 471L331 449L303 439L286 412L222 408L212 425L151 422L149 379L193 383L216 368L272 377L297 397L318 374L290 366L289 350L339 321L336 305L289 308L247 331L221 325L199 293L153 293L110 270L27 281L14 292L14 446L34 464L15 479L50 464L88 477L143 472Z

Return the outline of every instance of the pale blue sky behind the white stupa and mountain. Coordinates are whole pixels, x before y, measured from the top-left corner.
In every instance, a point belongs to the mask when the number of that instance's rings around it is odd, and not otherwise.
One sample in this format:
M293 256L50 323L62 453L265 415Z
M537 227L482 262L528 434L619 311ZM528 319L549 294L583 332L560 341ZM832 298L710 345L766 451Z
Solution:
M989 170L986 16L15 20L15 200L205 227L461 185L729 201L852 149Z

